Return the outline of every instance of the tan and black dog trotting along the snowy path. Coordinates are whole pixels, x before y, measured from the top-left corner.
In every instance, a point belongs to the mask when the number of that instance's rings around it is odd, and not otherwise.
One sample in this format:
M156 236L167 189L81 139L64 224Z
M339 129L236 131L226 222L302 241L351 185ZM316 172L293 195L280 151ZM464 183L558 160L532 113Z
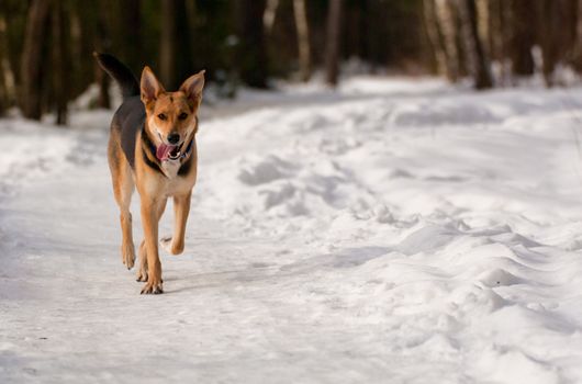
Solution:
M101 68L120 86L123 103L111 121L108 161L113 194L120 207L122 261L132 269L135 248L130 203L134 189L141 197L144 240L139 246L137 281L142 294L164 293L158 255L158 222L168 197L174 197L174 235L159 244L171 255L184 248L190 197L197 181L198 110L204 70L189 77L176 92L167 92L152 69L141 81L115 57L94 53Z

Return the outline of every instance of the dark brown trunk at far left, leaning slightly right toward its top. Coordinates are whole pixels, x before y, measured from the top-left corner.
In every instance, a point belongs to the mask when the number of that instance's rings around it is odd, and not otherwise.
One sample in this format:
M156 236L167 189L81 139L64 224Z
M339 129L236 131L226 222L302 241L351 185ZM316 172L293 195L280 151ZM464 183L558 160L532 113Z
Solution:
M20 106L24 117L41 120L43 46L51 0L33 0L29 8L21 67Z

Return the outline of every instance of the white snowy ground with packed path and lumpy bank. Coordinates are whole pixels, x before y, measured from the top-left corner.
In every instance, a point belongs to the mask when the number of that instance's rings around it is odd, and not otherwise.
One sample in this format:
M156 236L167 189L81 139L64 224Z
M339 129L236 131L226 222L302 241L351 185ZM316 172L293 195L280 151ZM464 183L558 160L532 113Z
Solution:
M159 296L119 255L111 111L0 120L0 382L580 383L581 101L358 78L205 106Z

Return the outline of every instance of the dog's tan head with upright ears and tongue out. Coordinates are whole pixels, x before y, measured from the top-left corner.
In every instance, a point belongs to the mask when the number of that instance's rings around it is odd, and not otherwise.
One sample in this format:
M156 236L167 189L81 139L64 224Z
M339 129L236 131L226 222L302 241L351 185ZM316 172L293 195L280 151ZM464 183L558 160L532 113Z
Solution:
M177 92L167 92L152 69L144 68L141 95L146 110L146 129L156 143L159 160L179 156L184 140L195 134L203 88L204 70L186 79Z

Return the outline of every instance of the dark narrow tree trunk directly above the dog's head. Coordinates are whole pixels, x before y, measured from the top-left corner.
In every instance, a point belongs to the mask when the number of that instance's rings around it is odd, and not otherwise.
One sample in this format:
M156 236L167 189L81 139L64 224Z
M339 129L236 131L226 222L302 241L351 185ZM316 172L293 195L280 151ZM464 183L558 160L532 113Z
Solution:
M176 80L176 38L177 25L177 1L161 1L161 34L159 46L159 76L161 83L167 89L177 88Z

